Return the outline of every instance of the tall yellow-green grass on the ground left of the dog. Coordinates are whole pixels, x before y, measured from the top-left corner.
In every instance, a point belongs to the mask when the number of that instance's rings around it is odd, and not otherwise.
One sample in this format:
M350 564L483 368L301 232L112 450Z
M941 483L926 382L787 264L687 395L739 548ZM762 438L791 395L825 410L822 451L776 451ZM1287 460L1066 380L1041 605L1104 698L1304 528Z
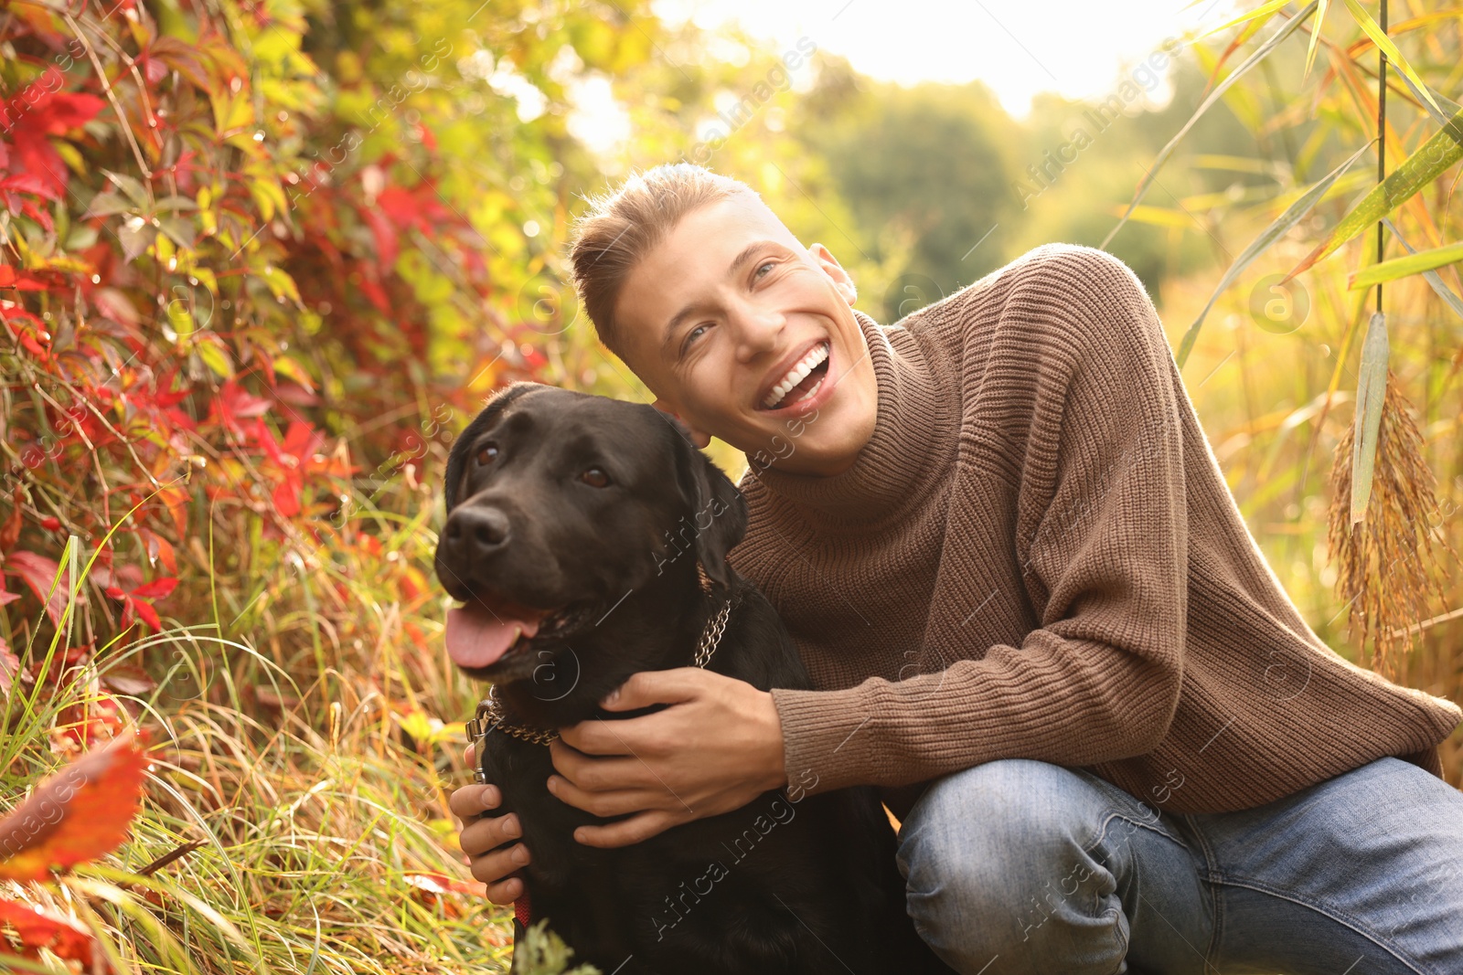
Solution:
M478 688L442 650L432 501L404 487L360 498L356 520L307 551L244 532L233 566L255 588L219 572L217 607L174 607L212 621L83 667L45 655L61 678L7 700L4 794L78 750L69 732L110 700L151 729L154 767L130 842L3 893L91 924L119 971L506 972L509 915L467 874L446 803L471 781L461 719ZM562 946L530 952L530 971L563 969Z

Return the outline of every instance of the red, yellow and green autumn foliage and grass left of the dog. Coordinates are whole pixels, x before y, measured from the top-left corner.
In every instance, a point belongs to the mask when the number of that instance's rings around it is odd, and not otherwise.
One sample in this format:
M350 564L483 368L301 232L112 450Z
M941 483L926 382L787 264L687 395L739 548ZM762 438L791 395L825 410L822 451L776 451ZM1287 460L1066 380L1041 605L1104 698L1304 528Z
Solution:
M581 4L521 15L534 37L445 0L0 4L6 797L31 789L16 816L34 816L129 728L159 743L149 789L140 766L88 778L73 803L107 813L47 824L0 870L53 889L4 906L26 957L101 965L63 895L130 918L124 953L167 971L293 971L310 925L322 971L503 947L464 893L440 791L459 725L430 748L405 731L473 693L423 623L427 478L493 387L597 361L541 294L559 288L559 177L584 164L550 61L604 70L651 47ZM549 110L525 118L490 76ZM341 773L341 754L367 763ZM392 838L325 786L391 808ZM379 924L341 912L354 895L307 896L281 839L301 830L328 884L379 845ZM173 871L195 873L159 893ZM214 946L136 914L164 906Z

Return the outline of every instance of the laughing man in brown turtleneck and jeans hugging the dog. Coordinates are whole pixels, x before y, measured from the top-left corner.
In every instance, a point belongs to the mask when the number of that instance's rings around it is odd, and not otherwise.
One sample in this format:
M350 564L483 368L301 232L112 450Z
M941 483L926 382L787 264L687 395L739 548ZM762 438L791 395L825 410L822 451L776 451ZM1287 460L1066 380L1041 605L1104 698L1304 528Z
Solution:
M1037 247L884 327L828 249L689 165L598 200L572 262L655 405L751 459L732 561L819 688L633 677L606 707L669 707L552 746L554 795L620 817L579 842L872 784L961 972L1463 972L1459 707L1301 618L1122 262ZM519 833L462 830L499 903Z

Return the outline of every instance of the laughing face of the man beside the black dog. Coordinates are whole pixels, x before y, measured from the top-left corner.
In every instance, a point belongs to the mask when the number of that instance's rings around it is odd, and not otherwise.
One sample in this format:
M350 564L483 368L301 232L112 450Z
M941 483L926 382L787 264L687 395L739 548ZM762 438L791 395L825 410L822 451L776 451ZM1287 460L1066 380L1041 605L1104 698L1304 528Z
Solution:
M756 197L688 213L616 306L625 360L705 446L717 436L791 474L849 468L873 434L878 384L853 281Z

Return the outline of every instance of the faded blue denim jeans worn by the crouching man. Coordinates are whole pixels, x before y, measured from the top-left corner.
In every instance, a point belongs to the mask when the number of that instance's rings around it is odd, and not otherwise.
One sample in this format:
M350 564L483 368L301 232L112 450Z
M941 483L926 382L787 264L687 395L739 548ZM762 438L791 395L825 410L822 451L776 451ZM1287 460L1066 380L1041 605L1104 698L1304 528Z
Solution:
M1463 792L1400 759L1203 816L988 762L926 789L898 864L967 975L1463 974Z

